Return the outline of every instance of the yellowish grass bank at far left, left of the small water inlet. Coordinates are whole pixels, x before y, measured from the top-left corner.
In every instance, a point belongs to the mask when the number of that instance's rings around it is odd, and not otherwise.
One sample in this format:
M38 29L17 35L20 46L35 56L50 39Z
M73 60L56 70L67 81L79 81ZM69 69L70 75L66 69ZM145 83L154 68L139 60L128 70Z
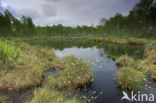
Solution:
M20 45L20 49L21 62L12 70L3 69L8 68L7 64L0 63L0 91L20 91L37 86L41 83L44 72L53 67L51 62L55 55L51 49L39 49L24 43Z

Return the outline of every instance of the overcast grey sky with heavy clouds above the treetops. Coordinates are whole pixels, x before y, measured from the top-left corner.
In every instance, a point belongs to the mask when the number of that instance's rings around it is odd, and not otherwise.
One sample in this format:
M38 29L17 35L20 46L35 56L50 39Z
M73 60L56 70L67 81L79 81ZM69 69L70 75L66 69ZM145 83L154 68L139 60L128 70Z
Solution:
M36 25L97 25L116 13L124 16L139 0L0 0L0 11L8 9L16 18L29 16Z

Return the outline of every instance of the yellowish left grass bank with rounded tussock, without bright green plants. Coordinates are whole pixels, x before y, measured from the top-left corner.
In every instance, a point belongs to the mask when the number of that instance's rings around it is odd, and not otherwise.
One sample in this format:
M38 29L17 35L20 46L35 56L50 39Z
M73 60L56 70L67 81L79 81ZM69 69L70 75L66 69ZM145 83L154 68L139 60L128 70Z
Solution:
M52 68L60 68L59 75L48 78L51 87L77 88L90 83L92 72L83 60L73 56L56 57L51 48L30 46L22 43L13 48L20 48L21 61L13 69L6 69L7 64L0 63L0 91L21 91L42 83L44 73Z

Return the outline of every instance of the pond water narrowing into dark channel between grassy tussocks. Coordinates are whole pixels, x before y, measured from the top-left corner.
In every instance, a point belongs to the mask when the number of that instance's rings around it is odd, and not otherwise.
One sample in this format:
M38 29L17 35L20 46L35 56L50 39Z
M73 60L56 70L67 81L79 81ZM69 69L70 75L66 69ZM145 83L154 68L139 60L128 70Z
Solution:
M117 87L116 74L118 67L112 58L121 55L130 55L135 59L143 57L144 46L113 45L108 43L95 43L89 41L37 41L32 44L50 46L59 57L74 55L87 61L93 70L93 82L89 85L83 96L91 98L94 93L98 95L93 103L131 103L121 101L122 91ZM144 92L156 94L156 90L149 85ZM88 102L88 103L89 103ZM136 102L138 103L138 102ZM143 103L143 102L141 102ZM148 102L145 102L148 103ZM150 102L149 102L150 103Z

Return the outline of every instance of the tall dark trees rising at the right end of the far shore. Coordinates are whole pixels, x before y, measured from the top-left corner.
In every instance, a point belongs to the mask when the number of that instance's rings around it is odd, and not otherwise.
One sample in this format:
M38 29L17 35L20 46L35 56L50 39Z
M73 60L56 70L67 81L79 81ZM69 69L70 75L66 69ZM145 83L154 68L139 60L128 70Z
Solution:
M156 35L156 0L140 0L128 16L117 13L109 20L103 18L104 34Z

